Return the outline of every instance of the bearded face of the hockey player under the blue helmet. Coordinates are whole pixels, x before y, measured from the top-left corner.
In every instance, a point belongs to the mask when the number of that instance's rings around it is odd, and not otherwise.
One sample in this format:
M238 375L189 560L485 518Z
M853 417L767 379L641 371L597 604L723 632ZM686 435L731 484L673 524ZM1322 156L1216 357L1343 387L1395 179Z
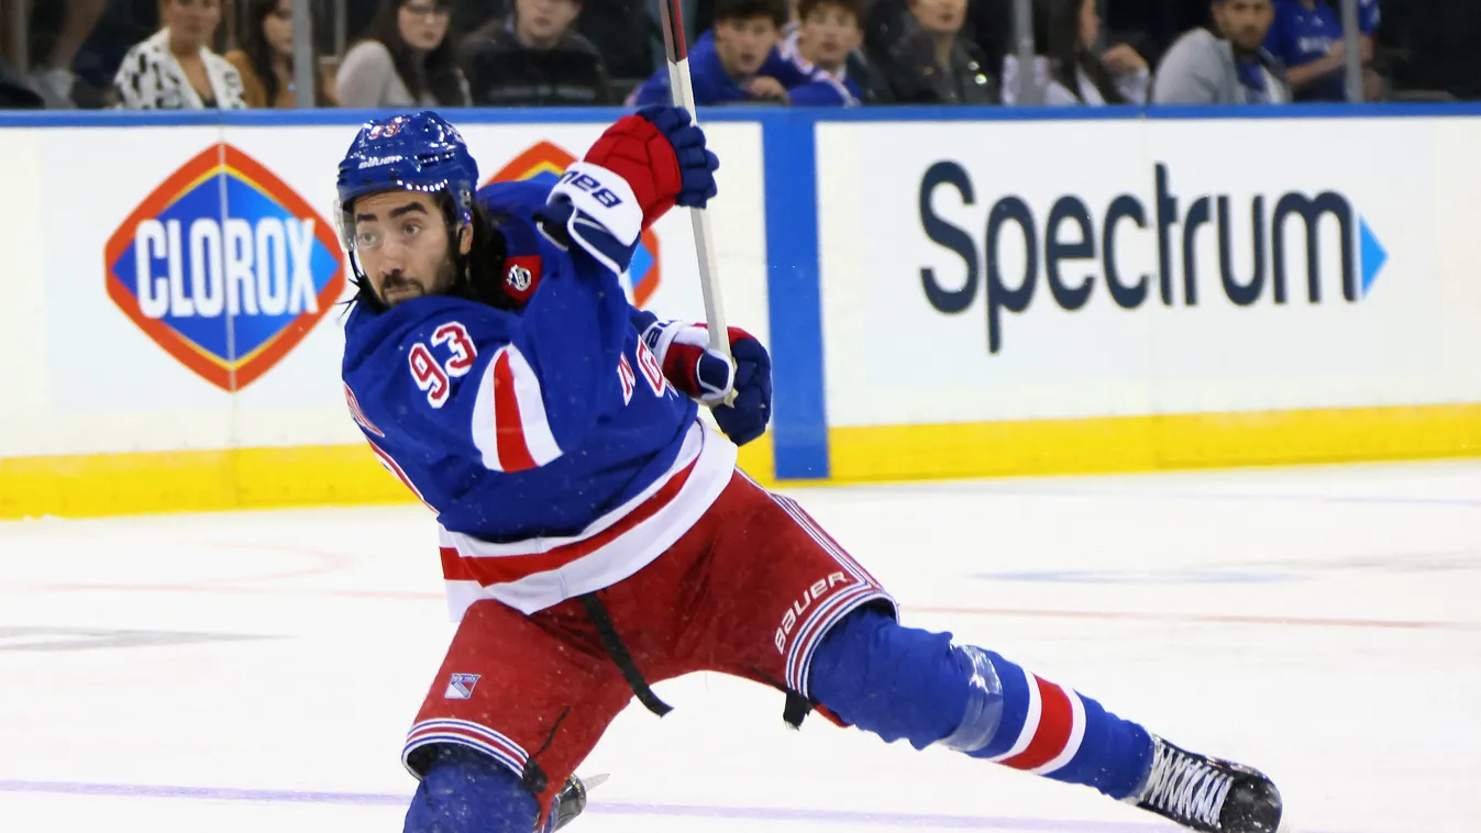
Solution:
M370 289L387 306L425 294L441 294L452 284L447 223L429 194L384 191L355 200L354 247ZM465 228L459 249L468 253L472 234Z

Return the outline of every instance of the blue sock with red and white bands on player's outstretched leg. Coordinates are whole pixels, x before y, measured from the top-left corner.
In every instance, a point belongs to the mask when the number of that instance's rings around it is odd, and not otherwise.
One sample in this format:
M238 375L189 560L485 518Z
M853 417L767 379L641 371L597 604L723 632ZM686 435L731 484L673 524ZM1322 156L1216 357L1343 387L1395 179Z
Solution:
M813 655L813 698L841 721L915 749L933 743L1123 799L1152 762L1142 726L951 633L862 610Z

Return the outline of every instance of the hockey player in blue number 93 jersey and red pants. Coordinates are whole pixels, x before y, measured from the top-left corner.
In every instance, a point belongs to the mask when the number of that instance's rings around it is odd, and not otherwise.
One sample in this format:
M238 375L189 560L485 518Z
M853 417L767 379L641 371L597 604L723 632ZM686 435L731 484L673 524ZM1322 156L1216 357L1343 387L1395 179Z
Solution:
M358 294L350 410L432 512L461 620L407 737L407 833L529 833L649 681L723 672L886 741L939 744L1204 833L1272 833L1254 769L1179 749L1007 657L905 627L795 502L736 469L770 358L634 309L641 229L705 206L718 161L681 109L609 127L552 188L493 185L431 112L367 123L339 166ZM735 392L732 404L720 404ZM701 422L709 405L720 431ZM578 802L579 803L579 802ZM557 818L560 817L560 818Z

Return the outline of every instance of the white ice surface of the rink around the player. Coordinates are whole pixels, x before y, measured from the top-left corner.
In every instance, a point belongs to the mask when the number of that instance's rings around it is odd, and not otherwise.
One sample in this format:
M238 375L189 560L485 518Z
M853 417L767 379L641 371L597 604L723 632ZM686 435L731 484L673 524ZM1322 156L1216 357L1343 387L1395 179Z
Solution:
M1481 832L1481 463L792 493L903 602L1194 749L1308 833ZM452 635L421 507L0 524L0 830L398 832ZM1154 833L715 675L582 768L573 833Z

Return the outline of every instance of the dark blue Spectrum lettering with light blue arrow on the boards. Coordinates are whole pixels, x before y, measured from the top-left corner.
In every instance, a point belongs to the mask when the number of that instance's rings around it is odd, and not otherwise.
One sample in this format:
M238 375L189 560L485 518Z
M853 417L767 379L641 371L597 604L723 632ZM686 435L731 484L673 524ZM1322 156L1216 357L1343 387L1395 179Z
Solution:
M1083 308L1097 291L1127 311L1155 302L1240 309L1296 306L1302 299L1306 305L1336 303L1337 297L1358 303L1388 263L1388 250L1340 191L1254 194L1237 201L1229 194L1174 191L1173 172L1164 163L1148 173L1142 188L1109 203L1080 194L1043 195L1035 203L1049 206L1047 216L1023 197L994 200L997 194L989 194L983 198L986 222L961 228L936 212L935 194L952 189L954 198L974 206L977 188L961 164L937 161L921 178L921 229L961 260L967 281L942 286L936 280L942 253L933 252L920 269L926 300L954 315L972 306L979 284L985 284L988 354L998 354L1009 315L1026 311L1035 294L1040 303L1065 312ZM983 229L980 237L976 229ZM1331 254L1324 262L1323 235L1334 238L1336 262ZM1136 237L1155 241L1155 257L1117 256L1118 246L1130 249ZM1004 252L1023 254L1022 272L1006 268ZM1237 256L1247 265L1237 268ZM979 280L983 272L985 280ZM1047 290L1047 299L1038 287Z

